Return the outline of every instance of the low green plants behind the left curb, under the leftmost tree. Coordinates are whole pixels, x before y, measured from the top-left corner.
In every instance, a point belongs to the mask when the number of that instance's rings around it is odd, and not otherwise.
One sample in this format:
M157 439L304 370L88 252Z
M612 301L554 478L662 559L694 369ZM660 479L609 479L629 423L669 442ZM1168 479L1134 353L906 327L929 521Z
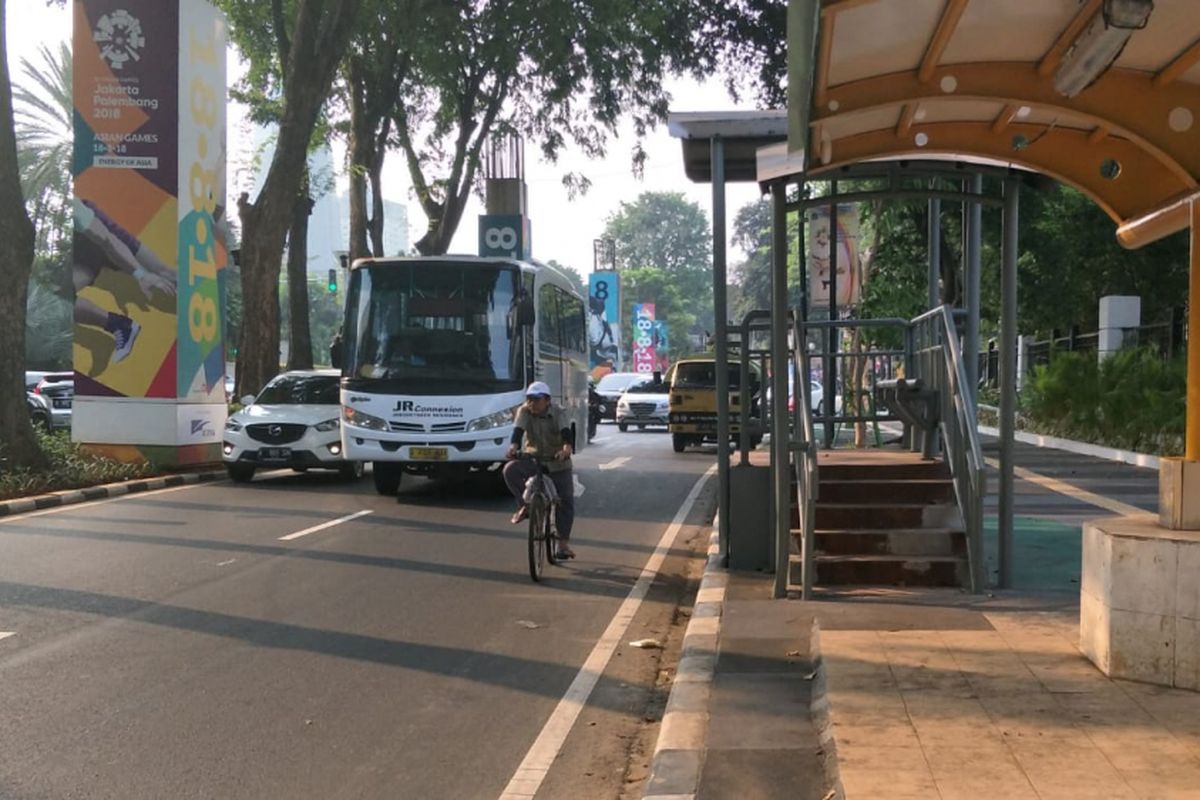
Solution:
M157 471L152 464L122 464L84 452L78 444L71 441L71 434L66 432L38 431L37 438L42 452L49 459L49 467L44 471L0 469L0 500L128 481ZM0 456L2 455L0 450Z

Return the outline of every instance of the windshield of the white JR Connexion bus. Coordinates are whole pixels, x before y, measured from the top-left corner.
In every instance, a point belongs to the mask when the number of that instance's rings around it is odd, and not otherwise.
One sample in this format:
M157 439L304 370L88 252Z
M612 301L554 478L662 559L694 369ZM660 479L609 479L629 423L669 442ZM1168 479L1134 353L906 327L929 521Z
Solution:
M522 387L516 266L382 261L347 297L347 389L482 395Z

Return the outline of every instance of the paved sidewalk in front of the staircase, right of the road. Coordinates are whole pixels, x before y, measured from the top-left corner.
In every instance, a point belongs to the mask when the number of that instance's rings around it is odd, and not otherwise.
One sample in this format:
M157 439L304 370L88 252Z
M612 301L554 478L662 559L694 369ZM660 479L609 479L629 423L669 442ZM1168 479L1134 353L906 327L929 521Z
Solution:
M1026 447L1150 503L1152 470ZM776 601L710 558L644 796L1200 800L1200 693L1110 680L1078 648L1078 524L1108 512L1019 479L1016 513L1016 589L988 595Z

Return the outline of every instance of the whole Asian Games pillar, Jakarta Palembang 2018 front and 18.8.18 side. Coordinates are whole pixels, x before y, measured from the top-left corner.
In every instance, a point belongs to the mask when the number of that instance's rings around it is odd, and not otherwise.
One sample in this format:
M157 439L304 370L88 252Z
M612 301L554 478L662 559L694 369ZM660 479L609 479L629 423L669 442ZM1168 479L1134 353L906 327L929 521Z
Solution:
M211 447L224 415L224 18L206 0L72 5L73 433Z

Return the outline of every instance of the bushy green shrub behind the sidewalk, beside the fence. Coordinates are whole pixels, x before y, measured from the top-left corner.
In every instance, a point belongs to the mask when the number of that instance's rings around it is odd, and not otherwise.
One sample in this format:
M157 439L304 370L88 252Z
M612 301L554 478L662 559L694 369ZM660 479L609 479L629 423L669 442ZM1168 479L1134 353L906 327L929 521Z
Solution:
M1021 396L1026 423L1050 435L1158 455L1183 449L1187 363L1157 350L1063 353L1038 366Z

